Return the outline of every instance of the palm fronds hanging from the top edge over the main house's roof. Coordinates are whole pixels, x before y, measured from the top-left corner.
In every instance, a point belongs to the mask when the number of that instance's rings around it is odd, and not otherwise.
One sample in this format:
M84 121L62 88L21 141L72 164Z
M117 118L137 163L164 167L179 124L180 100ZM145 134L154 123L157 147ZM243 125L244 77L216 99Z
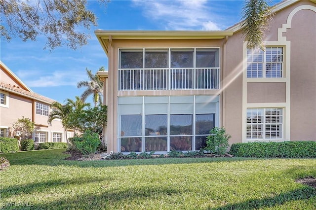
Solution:
M273 17L267 0L245 0L242 8L242 34L249 48L265 50L265 30Z

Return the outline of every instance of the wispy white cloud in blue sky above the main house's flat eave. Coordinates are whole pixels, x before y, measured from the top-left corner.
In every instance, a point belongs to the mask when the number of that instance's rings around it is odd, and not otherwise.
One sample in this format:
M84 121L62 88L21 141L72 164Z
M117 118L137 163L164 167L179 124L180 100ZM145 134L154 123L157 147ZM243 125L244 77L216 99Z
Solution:
M144 16L160 24L163 30L222 30L218 15L207 0L134 0Z

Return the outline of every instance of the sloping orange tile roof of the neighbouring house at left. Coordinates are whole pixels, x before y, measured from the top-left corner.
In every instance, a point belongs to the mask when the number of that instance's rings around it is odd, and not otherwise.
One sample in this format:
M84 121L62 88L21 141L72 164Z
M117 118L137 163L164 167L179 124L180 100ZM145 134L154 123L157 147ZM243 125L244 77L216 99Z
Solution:
M6 90L6 91L9 91L12 93L17 93L19 95L23 95L23 96L31 98L31 99L36 99L36 100L45 102L47 104L52 104L53 102L55 102L55 100L52 100L52 99L47 98L45 96L42 96L38 93L26 91L26 90L23 90L22 88L20 88L19 86L6 84L4 82L0 82L0 89Z

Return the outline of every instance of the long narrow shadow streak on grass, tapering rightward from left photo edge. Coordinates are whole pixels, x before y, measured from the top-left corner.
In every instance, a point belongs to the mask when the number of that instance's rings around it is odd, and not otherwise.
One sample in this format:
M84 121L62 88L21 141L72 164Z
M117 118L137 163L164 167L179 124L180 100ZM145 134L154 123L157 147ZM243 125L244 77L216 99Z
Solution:
M76 177L76 178L63 178L63 179L52 179L49 181L41 181L35 182L30 184L22 184L22 185L15 185L12 187L2 188L1 189L1 198L9 198L14 195L21 195L21 194L31 194L34 191L45 191L48 188L56 188L63 185L72 185L72 184L84 184L84 183L93 183L93 182L100 182L100 181L109 181L113 180L112 177L106 178L97 178L97 177Z

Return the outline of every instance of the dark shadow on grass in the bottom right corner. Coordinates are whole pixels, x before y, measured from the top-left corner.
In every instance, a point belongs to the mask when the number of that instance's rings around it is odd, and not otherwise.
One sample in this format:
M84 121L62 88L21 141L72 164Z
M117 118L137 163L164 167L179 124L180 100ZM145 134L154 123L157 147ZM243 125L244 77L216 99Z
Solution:
M272 208L286 202L295 200L308 200L316 196L316 189L304 186L301 189L281 193L274 197L264 199L251 199L236 204L227 204L223 207L210 208L208 210L257 210L261 208ZM316 207L316 204L315 204Z

